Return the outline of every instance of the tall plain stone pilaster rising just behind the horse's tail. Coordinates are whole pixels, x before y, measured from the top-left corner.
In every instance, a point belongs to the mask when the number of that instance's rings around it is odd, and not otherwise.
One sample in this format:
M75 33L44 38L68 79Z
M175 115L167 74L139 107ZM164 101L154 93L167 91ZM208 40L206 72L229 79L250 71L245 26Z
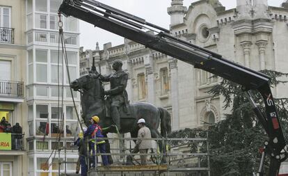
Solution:
M179 129L179 93L178 93L178 67L177 59L168 56L171 74L171 102L172 102L172 130Z

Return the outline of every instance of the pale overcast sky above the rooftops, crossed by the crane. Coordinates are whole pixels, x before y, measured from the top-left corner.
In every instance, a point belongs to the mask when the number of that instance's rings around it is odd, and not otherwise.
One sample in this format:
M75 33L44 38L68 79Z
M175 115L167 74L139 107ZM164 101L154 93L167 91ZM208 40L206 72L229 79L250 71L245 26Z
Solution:
M279 7L284 1L268 0L268 4ZM141 17L146 22L169 29L170 15L167 13L167 8L170 6L171 0L99 0L99 2ZM183 1L187 8L193 2L195 0ZM236 0L220 0L220 2L226 7L226 10L236 8ZM100 49L103 49L103 45L107 42L111 42L114 47L123 44L124 39L80 20L80 47L84 47L84 50L95 49L96 42L99 42Z

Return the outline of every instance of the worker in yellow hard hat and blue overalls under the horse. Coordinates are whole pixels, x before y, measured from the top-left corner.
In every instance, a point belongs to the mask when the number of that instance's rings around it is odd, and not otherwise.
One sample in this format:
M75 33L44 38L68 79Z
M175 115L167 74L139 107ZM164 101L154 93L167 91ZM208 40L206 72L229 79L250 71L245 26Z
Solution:
M97 153L105 154L106 148L105 148L105 141L102 139L104 136L102 135L102 129L98 125L99 123L99 117L97 115L94 115L92 118L90 118L90 123L86 133L84 134L84 138L88 136L89 138L89 153L92 150L92 154L90 154L92 157L90 159L92 163L92 168L95 168L95 147L97 147ZM95 141L95 135L97 138L97 141ZM108 166L108 157L107 155L101 155L102 157L102 163L104 166Z

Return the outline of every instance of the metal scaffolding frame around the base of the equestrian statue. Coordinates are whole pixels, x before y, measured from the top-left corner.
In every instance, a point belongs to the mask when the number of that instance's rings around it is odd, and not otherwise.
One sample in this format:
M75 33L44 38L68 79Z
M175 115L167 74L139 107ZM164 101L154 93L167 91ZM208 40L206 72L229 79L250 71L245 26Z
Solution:
M132 154L131 153L131 141L135 141L138 138L124 138L124 137L113 137L113 138L102 138L103 140L118 140L119 143L119 148L112 148L111 153L97 153L97 150L95 150L95 162L97 161L96 157L102 156L102 155L111 155L111 156L118 156L119 160L122 160L122 157L127 157L127 156L140 156L140 155L147 155L150 156L150 159L152 157L157 157L157 163L147 163L145 166L141 165L135 165L135 166L126 166L125 163L120 163L116 162L113 163L111 166L98 166L99 162L95 164L95 168L89 168L90 163L88 162L88 175L102 175L105 173L106 174L117 174L117 175L137 175L136 173L139 172L147 172L151 173L154 175L161 175L161 173L195 173L195 175L200 176L202 172L208 173L208 176L210 176L210 163L209 163L209 141L208 139L208 133L206 133L207 137L206 138L146 138L143 140L151 140L151 141L162 141L162 143L167 143L170 141L181 141L180 144L178 145L170 145L170 150L166 151L166 153L147 153L147 154ZM95 141L96 141L96 136L95 136ZM130 143L130 148L125 147L123 143L125 141L129 141ZM185 141L185 142L183 142ZM198 143L198 151L199 152L190 152L190 145L191 143ZM206 143L206 151L207 152L200 152L200 143L201 146L203 143ZM167 145L166 145L167 146ZM204 147L202 148L204 149ZM66 164L66 163L75 163L71 161L66 160L66 147L63 147L64 154L65 154L65 160L62 161L59 164ZM171 152L173 150L173 152ZM118 151L118 152L112 152L112 151ZM159 151L159 146L157 145L157 150ZM177 151L177 152L174 152ZM89 155L88 155L89 156ZM159 159L161 159L163 156L167 157L167 163L161 164L159 162ZM201 158L206 157L207 163L205 166L202 166L201 164ZM137 159L135 159L137 161ZM195 161L197 160L197 161ZM187 161L190 161L187 162ZM61 168L59 166L59 168ZM64 170L65 173L62 173L61 175L63 176L72 176L72 175L77 175L73 173L67 173L66 169ZM60 171L59 171L60 172Z

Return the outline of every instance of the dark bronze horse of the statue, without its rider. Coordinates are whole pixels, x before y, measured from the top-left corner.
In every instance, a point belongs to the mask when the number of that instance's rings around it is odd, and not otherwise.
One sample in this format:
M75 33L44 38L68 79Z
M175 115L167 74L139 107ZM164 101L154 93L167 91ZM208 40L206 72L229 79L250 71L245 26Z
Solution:
M99 74L96 72L90 72L83 75L70 83L70 87L73 90L79 90L81 92L81 107L82 118L85 124L90 125L89 119L93 115L97 115L100 118L99 125L104 128L108 128L104 131L104 136L107 133L117 133L113 125L113 120L109 115L106 115L106 106L104 99L104 88L102 81L99 80ZM138 125L137 121L140 118L144 118L146 126L151 131L152 138L166 138L171 132L171 119L170 113L166 109L157 108L153 104L138 102L129 105L129 113L125 112L124 108L120 108L120 134L130 133L131 138L137 138ZM161 127L161 133L157 130ZM162 141L157 141L160 151L163 153L161 163L166 162L166 145ZM109 142L106 141L106 152L110 153ZM109 155L109 162L112 163L111 155Z

